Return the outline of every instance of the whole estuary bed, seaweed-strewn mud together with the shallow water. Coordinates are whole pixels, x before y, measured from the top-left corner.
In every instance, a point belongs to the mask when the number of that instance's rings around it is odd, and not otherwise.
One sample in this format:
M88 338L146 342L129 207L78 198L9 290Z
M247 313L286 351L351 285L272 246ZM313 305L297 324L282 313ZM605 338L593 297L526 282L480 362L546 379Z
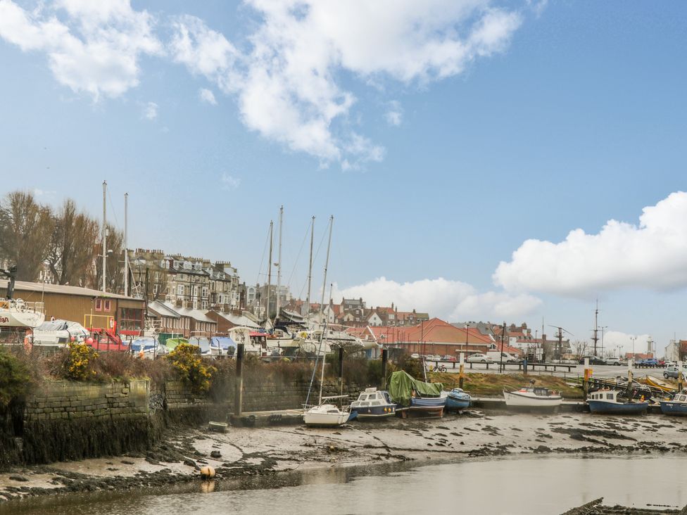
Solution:
M685 422L473 412L335 431L198 428L146 456L0 474L0 514L556 514L598 497L683 507ZM212 483L198 478L205 463L218 470Z

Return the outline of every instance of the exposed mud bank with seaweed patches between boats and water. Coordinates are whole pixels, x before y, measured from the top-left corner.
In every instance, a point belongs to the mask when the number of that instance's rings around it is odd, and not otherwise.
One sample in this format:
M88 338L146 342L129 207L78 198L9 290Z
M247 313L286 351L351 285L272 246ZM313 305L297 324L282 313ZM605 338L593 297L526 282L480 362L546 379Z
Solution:
M20 499L97 490L148 490L202 483L212 466L217 480L278 476L286 471L429 464L532 454L646 455L687 453L681 419L590 414L503 414L472 410L443 419L353 422L342 428L305 426L176 429L139 454L30 466L0 474L0 513ZM196 484L197 483L197 484ZM211 488L211 487L208 487ZM21 502L20 502L21 504Z

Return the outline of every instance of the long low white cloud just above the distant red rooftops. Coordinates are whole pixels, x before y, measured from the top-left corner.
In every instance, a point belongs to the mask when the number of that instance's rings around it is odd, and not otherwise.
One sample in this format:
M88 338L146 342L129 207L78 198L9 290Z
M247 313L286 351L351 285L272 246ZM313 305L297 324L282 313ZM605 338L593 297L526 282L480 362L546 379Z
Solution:
M533 313L541 300L532 295L510 295L488 291L479 293L473 286L448 279L421 279L398 283L385 277L339 290L336 297L364 298L368 307L389 306L400 310L429 312L432 317L449 321L482 319L500 320Z

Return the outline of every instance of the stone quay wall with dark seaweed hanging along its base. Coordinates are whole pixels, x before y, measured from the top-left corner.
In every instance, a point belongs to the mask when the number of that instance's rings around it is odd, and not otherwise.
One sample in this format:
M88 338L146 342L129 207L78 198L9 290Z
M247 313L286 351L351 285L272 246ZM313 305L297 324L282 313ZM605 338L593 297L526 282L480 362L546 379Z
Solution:
M251 382L244 385L244 412L297 409L309 381ZM325 383L323 395L338 395ZM358 396L356 385L343 394ZM310 403L317 402L319 383ZM148 379L113 383L47 381L25 402L0 412L0 470L91 457L144 452L172 425L225 421L234 412L234 386L212 397L194 395L181 381L153 386Z

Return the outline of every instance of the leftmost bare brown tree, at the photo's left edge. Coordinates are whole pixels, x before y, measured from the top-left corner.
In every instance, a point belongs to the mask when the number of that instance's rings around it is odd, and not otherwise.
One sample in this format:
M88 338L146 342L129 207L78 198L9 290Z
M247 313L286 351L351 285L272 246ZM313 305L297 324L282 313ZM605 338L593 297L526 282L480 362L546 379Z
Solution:
M17 265L17 279L35 281L49 253L53 231L50 208L32 193L12 191L0 203L0 252Z

